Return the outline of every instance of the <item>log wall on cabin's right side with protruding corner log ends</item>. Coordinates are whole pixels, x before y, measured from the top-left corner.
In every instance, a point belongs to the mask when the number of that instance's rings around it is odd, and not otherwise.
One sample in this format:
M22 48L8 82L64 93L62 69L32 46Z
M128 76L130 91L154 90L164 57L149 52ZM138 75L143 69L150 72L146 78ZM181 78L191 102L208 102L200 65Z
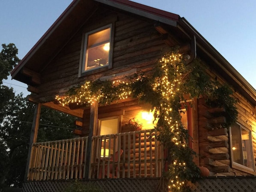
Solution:
M212 80L217 80L220 84L227 84L214 69L206 70ZM232 87L231 87L232 88ZM233 88L232 88L233 89ZM256 158L256 115L255 106L250 103L241 93L233 89L233 97L238 101L236 107L238 109L237 122L252 132L253 141L253 159ZM199 165L209 168L212 176L239 176L250 175L247 172L232 168L229 130L212 129L211 112L216 109L208 108L205 105L204 98L198 102L198 124L199 124ZM217 109L222 110L222 109ZM215 121L225 121L223 117L215 119ZM214 125L213 125L214 126ZM216 128L216 127L215 127Z

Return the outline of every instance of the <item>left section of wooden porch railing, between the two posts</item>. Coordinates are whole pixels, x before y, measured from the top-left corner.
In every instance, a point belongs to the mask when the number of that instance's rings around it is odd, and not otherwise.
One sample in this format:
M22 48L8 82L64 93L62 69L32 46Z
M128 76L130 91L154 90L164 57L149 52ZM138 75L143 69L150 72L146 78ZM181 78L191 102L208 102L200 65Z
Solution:
M28 180L84 178L88 137L32 145Z

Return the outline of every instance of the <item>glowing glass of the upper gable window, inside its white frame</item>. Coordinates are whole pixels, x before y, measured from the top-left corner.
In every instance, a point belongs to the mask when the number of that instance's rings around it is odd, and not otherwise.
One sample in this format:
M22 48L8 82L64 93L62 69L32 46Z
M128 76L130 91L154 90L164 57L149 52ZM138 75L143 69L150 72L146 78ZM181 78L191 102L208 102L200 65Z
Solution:
M109 64L110 28L88 35L85 71Z

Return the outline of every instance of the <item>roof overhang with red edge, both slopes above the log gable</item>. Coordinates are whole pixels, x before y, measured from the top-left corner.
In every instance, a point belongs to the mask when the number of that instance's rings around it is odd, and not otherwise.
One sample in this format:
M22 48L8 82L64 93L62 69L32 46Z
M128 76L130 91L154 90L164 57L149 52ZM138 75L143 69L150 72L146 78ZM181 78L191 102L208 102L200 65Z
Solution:
M129 0L74 0L13 69L11 72L12 78L31 85L31 79L24 74L25 65L28 70L40 74L40 71L51 62L51 59L60 52L93 12L97 10L100 3L177 27L188 37L195 36L197 49L208 56L216 65L218 72L256 106L256 90L185 18Z

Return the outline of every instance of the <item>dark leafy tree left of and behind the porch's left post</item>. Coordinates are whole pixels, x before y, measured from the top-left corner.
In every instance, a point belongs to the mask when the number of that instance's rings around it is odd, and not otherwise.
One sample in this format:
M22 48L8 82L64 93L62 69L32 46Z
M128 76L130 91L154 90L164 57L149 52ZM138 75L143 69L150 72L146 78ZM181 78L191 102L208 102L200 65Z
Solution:
M18 95L9 101L5 109L6 116L0 131L1 138L9 149L5 184L20 187L25 175L35 105ZM73 137L74 117L47 107L42 107L41 112L37 142Z

